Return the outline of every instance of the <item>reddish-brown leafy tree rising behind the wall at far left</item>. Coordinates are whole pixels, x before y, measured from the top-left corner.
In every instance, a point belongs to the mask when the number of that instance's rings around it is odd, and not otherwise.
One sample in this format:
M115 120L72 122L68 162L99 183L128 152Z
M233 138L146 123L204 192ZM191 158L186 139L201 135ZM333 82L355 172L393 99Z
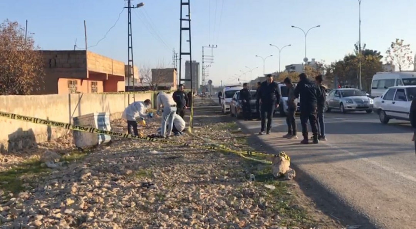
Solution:
M42 54L17 22L0 24L0 94L27 95L42 88Z

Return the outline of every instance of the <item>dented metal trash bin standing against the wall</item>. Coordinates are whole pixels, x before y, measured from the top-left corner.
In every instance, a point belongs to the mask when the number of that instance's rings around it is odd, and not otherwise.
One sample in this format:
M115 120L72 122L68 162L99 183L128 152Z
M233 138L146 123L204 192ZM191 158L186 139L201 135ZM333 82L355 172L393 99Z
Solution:
M100 130L111 131L110 114L105 112L90 113L72 118L74 125L94 127ZM77 147L101 145L111 141L110 135L72 131L74 143Z

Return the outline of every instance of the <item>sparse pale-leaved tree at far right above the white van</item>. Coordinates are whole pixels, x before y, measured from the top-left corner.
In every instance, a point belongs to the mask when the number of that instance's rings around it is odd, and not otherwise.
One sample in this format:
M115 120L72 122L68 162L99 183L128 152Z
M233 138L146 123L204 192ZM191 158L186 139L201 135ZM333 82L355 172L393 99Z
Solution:
M403 39L396 38L396 41L391 42L386 54L386 62L399 66L399 71L410 67L414 63L410 44L404 44Z

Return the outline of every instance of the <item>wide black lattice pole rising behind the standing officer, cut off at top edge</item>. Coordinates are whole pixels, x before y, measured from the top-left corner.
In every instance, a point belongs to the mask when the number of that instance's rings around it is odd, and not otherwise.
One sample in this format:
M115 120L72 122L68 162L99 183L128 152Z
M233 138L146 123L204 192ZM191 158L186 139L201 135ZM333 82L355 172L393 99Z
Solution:
M181 22L181 29L180 29L180 37L179 37L179 84L182 83L182 81L190 81L191 82L191 91L193 91L193 80L192 80L192 45L191 45L191 0L181 0L181 18L179 19ZM183 7L185 7L185 12L183 10ZM188 11L188 13L186 13ZM183 15L185 13L185 15ZM188 23L186 23L188 22ZM189 44L189 51L183 52L182 49L182 33L188 31L188 42ZM189 56L189 68L190 68L190 79L185 79L185 77L182 77L182 56Z

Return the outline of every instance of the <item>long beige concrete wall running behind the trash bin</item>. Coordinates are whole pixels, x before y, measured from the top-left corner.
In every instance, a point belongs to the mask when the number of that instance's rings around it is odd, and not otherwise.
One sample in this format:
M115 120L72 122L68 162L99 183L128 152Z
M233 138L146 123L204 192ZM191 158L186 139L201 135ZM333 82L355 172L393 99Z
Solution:
M130 95L130 103L152 99L152 93ZM109 112L120 118L128 105L124 94L55 94L0 96L0 111L69 123L72 118L93 112ZM15 151L57 138L67 130L0 117L0 152Z

